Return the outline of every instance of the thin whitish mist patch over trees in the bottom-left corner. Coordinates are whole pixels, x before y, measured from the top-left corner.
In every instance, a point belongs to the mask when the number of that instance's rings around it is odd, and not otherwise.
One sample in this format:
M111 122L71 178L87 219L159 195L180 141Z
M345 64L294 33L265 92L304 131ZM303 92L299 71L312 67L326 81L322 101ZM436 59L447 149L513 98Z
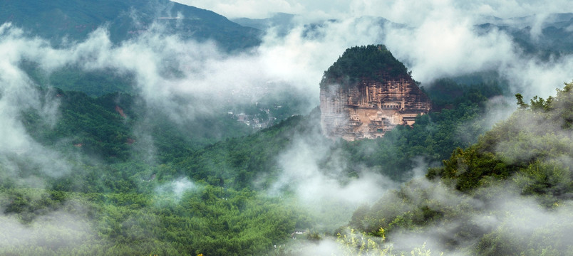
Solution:
M49 195L45 191L21 193L11 196L0 194L0 254L22 252L31 247L69 250L97 239L91 221L83 215L86 207L78 201L46 206ZM26 202L24 206L22 201ZM31 211L26 204L41 207ZM22 213L11 214L13 209L9 207L19 208Z

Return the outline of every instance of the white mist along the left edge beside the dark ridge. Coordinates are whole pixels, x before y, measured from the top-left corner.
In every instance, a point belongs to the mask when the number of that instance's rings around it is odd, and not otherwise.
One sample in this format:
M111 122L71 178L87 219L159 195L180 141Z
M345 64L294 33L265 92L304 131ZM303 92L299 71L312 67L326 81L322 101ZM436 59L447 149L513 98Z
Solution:
M41 51L46 46L38 39L24 39L23 32L11 28L9 23L0 26L0 36L0 55L5 56L0 60L0 164L14 175L38 175L21 169L39 169L39 174L51 177L67 174L70 166L61 154L36 142L22 123L22 116L31 110L48 127L53 127L58 119L58 100L49 92L36 90L36 85L19 68L22 60L33 57L33 53L28 55L29 51Z

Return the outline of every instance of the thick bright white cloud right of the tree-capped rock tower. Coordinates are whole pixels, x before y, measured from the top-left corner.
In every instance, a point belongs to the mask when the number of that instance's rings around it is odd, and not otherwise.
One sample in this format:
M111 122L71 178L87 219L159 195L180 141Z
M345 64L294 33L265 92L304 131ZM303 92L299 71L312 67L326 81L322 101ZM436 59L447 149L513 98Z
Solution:
M495 70L510 83L512 92L547 97L553 94L555 85L572 80L568 70L573 67L573 55L541 60L524 54L507 32L478 29L475 25L481 22L480 16L467 14L465 6L450 1L433 4L425 15L418 16L416 26L386 26L383 36L388 50L406 63L415 80L423 85L436 78ZM530 19L530 26L535 28L531 33L534 41L548 17L543 10Z

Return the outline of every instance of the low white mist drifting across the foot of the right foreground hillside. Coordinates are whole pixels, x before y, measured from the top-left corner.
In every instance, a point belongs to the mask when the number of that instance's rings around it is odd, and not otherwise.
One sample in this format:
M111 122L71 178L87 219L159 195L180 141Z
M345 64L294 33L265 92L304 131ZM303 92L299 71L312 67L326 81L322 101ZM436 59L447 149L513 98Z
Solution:
M572 217L570 201L547 209L540 206L539 198L521 196L519 191L520 188L510 181L467 195L443 183L417 178L400 189L401 198L386 194L376 203L378 213L399 208L393 213L395 215L376 215L374 218L400 218L398 215L408 216L416 208L429 206L445 212L440 220L430 220L414 229L392 228L391 233L386 233L384 242L379 237L344 230L342 239L334 241L326 236L316 242L302 243L298 253L373 255L385 252L401 255L415 251L425 252L419 255L441 255L442 252L445 255L475 255L478 247L482 252L491 250L495 254L525 250L540 253L548 248L553 252L566 252L569 242L562 238L572 235L567 221Z

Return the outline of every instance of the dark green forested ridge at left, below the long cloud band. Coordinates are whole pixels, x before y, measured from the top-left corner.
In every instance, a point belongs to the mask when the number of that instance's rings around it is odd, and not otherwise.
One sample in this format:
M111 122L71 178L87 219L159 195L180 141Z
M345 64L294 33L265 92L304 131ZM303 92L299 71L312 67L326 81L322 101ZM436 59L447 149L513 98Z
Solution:
M96 156L108 162L143 159L140 150L148 150L145 147L156 148L158 159L167 161L220 139L253 132L227 112L197 115L189 122L175 124L166 112L148 110L137 96L125 93L90 97L83 92L38 90L58 101L60 114L57 122L48 124L38 110L25 110L21 117L31 136L58 151ZM140 127L143 123L145 128ZM66 143L61 141L63 138Z

